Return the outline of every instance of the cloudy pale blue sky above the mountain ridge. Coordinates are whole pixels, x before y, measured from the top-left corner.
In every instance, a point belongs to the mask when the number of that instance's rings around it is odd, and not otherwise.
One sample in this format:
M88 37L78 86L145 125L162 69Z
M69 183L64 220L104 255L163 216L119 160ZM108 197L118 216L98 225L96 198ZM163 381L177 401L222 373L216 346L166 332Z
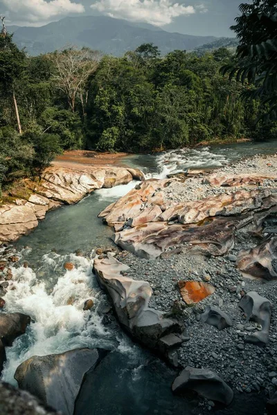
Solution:
M240 3L251 0L0 0L6 24L42 26L66 16L106 15L189 35L234 36Z

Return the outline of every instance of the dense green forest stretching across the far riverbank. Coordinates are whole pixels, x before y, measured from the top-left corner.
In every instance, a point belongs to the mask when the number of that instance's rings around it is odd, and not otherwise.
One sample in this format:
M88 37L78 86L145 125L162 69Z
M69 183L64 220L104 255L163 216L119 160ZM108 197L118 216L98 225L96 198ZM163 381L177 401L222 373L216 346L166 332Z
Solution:
M257 122L262 98L240 100L253 82L220 73L238 71L240 58L226 48L161 56L152 44L124 57L75 47L29 57L3 23L0 183L39 174L66 149L160 151L276 137L276 122Z

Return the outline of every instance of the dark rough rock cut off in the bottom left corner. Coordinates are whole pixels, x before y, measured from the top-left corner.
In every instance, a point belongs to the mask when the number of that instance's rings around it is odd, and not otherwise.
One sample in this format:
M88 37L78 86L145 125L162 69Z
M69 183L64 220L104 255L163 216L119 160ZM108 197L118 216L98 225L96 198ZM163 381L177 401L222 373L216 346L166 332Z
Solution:
M1 415L62 415L54 409L42 404L26 391L0 382L0 414Z

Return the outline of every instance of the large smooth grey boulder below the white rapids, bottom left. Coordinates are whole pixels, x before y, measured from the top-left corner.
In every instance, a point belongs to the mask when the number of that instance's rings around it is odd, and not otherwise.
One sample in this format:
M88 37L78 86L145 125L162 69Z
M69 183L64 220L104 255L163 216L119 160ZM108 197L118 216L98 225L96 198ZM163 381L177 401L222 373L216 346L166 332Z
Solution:
M102 349L75 349L56 355L33 356L17 368L15 379L21 389L37 396L44 405L63 415L73 415L85 374L106 354Z

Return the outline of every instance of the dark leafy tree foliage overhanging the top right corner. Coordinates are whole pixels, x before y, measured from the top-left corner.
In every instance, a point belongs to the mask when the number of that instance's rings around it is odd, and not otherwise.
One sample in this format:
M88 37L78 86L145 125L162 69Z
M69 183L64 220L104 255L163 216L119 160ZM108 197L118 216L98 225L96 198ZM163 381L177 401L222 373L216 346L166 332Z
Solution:
M269 104L268 114L277 120L277 4L276 0L254 0L240 5L242 15L237 17L235 31L240 44L237 62L222 67L244 84L253 84L244 98L261 98Z

